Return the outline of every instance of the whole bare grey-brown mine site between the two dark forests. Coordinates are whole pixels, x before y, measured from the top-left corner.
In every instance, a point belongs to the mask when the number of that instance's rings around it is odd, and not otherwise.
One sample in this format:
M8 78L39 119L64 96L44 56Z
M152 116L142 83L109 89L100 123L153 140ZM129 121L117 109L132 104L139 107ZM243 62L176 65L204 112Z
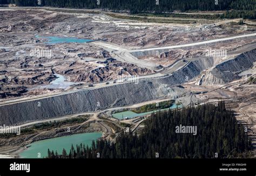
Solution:
M255 20L130 16L0 8L0 126L22 130L0 138L0 156L25 156L33 142L78 133L114 141L142 131L150 114L113 114L165 101L225 101L256 145Z

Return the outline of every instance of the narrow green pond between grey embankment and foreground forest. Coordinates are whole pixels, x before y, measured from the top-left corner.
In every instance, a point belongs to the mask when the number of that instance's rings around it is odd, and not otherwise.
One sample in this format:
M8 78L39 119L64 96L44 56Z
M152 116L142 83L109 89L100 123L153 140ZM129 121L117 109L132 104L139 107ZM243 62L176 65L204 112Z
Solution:
M165 109L160 109L161 111L165 111L165 110L168 110L168 109L175 109L175 108L181 108L183 107L183 105L179 104L172 104L172 106L170 108L165 108ZM118 113L114 113L112 114L112 116L114 118L117 118L119 120L122 120L122 119L125 119L126 117L127 118L135 118L135 117L139 117L139 116L144 116L144 115L148 115L148 114L152 114L152 113L155 113L157 112L158 110L153 110L153 111L149 111L149 112L143 112L143 113L136 113L136 112L133 112L133 111L123 111L123 112L118 112Z

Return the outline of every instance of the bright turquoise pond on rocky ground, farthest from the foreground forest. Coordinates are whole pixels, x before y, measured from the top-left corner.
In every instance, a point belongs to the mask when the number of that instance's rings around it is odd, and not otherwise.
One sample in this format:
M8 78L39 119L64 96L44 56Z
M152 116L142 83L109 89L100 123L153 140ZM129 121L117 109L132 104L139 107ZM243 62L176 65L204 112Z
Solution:
M44 38L47 40L46 44L61 44L61 43L87 43L89 39L79 39L79 38L73 38L73 37L42 37L42 36L36 36L36 38Z

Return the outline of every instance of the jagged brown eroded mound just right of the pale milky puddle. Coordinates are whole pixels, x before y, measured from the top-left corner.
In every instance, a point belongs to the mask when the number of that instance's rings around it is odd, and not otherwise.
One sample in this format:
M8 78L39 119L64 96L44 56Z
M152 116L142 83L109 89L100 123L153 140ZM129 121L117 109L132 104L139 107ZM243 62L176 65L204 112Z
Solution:
M120 76L147 75L152 70L127 64L116 59L106 59L97 62L75 61L67 67L56 66L55 72L69 76L72 82L100 82L120 79Z

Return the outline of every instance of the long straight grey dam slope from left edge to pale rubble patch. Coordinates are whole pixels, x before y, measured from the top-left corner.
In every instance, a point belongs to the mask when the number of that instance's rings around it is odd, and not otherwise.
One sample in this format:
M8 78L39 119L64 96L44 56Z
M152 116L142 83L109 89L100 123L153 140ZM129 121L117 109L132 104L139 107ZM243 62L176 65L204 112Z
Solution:
M14 125L42 119L63 117L111 107L141 103L165 97L178 96L180 88L159 89L160 83L140 81L103 88L81 90L75 93L41 98L0 107L0 125ZM40 104L40 106L38 106Z

